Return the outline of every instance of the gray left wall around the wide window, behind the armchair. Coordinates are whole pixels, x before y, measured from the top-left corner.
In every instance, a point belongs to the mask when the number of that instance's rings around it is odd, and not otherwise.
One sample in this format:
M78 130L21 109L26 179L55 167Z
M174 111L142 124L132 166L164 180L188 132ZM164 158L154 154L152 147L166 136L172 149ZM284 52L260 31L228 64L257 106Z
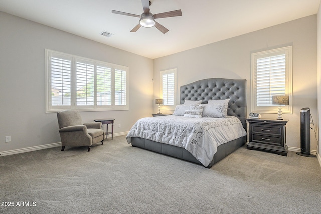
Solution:
M152 113L152 59L3 12L0 38L0 153L61 142L56 114L45 113L46 48L129 67L129 111L81 112L84 122L115 118L117 135Z

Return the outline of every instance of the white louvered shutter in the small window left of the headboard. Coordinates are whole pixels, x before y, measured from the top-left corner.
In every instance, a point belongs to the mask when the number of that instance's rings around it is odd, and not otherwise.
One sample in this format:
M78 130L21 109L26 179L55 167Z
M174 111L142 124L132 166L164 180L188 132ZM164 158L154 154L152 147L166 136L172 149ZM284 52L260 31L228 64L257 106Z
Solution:
M162 75L162 92L164 105L174 105L175 99L175 74L166 73Z

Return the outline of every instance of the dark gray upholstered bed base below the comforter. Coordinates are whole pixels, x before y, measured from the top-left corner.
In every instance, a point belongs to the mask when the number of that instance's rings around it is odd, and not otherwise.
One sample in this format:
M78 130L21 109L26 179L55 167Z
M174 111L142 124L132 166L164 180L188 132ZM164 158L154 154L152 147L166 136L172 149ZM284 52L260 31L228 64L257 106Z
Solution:
M222 160L233 151L244 145L246 142L246 136L240 137L238 139L229 141L217 147L217 152L214 155L212 162L205 166L207 168L211 168L215 163ZM189 162L197 163L204 166L200 161L198 161L189 151L184 148L158 143L152 140L147 140L140 137L132 137L131 145L134 147L143 148L146 150L154 151L157 153L165 154L171 157L176 157L182 160L187 160Z

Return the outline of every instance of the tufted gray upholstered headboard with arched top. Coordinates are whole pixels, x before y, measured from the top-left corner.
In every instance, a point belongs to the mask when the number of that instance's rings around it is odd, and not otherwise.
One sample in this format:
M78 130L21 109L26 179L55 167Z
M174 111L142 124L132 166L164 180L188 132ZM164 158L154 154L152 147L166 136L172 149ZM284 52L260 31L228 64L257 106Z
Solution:
M230 98L227 115L238 117L246 130L247 80L210 78L180 88L180 104L184 100L224 100Z

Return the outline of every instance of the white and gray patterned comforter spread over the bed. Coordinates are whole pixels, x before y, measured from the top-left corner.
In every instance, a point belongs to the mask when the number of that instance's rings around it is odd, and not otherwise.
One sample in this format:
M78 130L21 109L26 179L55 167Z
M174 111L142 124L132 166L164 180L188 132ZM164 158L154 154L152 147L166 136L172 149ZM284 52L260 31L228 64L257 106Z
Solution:
M138 120L127 134L156 142L171 144L188 150L204 166L208 166L217 147L246 135L237 117L189 118L183 116L146 117Z

